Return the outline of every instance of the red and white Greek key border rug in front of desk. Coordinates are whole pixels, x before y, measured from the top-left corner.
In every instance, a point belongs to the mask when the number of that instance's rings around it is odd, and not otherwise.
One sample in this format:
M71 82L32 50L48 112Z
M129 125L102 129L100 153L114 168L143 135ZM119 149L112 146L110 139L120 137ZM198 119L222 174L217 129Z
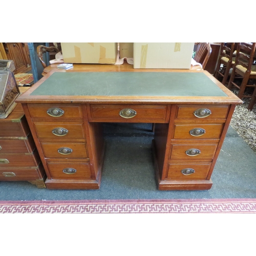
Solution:
M256 199L0 201L0 214L251 214Z

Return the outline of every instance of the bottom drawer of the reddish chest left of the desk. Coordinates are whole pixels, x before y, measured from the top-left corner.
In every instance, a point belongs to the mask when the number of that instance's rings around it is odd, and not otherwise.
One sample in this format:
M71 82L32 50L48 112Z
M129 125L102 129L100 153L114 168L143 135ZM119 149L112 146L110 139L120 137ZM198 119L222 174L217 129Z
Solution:
M41 179L41 175L38 175L38 168L1 168L0 180L12 181L12 180L37 180Z

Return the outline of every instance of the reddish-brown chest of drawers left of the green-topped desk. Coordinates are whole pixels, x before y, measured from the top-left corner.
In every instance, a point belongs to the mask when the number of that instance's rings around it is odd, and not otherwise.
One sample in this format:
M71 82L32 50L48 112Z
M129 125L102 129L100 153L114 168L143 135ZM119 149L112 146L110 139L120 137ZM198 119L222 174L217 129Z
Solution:
M29 181L45 186L45 170L21 104L0 119L0 181Z

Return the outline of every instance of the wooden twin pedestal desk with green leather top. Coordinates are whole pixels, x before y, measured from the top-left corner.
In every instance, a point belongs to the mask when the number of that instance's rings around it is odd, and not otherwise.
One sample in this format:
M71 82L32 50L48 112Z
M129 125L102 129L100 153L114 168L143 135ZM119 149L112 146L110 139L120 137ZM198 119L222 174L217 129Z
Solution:
M232 113L242 103L207 71L191 70L49 72L16 102L26 114L47 188L98 189L102 123L135 122L155 124L160 190L211 188Z

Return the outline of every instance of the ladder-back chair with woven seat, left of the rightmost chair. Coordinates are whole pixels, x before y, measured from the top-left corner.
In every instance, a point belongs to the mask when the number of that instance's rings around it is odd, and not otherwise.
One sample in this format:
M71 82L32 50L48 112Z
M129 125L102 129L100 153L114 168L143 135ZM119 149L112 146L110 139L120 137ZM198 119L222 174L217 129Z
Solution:
M224 84L227 83L229 71L234 66L236 60L235 43L234 42L222 42L220 49L220 56L214 76ZM221 79L222 78L222 79Z

